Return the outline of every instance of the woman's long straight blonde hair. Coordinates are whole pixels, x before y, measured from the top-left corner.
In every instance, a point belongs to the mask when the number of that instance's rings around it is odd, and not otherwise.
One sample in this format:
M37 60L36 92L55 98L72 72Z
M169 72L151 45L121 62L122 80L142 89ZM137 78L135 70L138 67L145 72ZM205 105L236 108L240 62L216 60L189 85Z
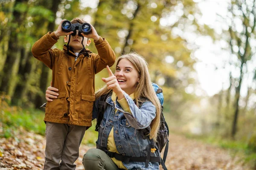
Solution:
M128 61L130 61L134 65L134 68L139 73L140 80L139 83L137 84L137 87L135 88L136 93L134 93L137 106L139 106L140 102L146 102L149 100L156 107L156 116L150 124L151 132L149 134L149 138L154 139L156 141L158 129L160 126L161 105L151 83L148 71L148 64L145 61L145 59L142 56L140 56L140 54L137 54L135 52L127 53L118 57L116 65L118 65L121 59L127 59ZM96 99L98 99L100 96L104 94L107 94L110 91L111 89L108 89L107 86L104 86L96 92Z

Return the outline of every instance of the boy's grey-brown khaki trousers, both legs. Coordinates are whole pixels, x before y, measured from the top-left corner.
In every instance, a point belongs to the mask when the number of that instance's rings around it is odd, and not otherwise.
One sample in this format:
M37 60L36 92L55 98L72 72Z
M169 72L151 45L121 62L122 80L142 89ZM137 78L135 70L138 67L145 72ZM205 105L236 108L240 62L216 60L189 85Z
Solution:
M75 170L86 128L47 122L44 170Z

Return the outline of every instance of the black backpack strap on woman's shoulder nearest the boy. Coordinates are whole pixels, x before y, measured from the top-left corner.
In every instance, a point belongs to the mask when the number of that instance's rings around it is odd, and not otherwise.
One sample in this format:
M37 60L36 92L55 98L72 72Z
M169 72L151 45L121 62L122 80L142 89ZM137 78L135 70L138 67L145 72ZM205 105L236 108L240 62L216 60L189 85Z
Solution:
M111 96L111 92L108 94L100 96L99 102L98 102L98 117L97 117L97 123L95 126L95 131L99 131L99 125L103 119L104 111L108 106L108 103L106 100L108 99L109 96Z

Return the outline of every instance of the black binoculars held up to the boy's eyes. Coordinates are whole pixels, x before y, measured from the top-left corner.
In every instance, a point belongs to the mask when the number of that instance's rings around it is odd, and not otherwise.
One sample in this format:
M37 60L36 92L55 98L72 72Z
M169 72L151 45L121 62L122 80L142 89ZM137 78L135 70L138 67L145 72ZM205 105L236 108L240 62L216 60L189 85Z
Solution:
M84 34L89 34L91 31L91 26L89 23L83 23L83 24L79 24L79 23L74 23L72 24L70 21L65 20L62 24L61 24L61 28L63 31L65 32L70 32L73 31L73 33L71 35L75 36L76 35L76 30L78 30L78 35L80 37L82 37L81 33Z

